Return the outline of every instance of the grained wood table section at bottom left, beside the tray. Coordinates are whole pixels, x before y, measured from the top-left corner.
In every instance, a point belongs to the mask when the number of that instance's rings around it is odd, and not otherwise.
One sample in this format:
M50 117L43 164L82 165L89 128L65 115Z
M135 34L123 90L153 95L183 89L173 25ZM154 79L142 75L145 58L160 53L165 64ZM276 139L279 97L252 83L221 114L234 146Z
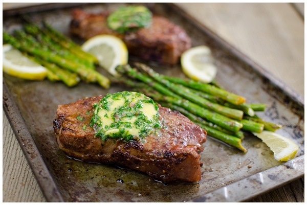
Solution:
M2 117L3 202L46 202L4 111Z

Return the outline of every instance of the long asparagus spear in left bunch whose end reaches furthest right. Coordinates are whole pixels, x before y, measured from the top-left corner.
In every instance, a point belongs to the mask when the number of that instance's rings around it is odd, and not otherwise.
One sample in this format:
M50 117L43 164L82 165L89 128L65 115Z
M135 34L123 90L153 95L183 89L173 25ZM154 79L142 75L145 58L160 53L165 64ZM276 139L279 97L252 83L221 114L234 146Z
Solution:
M3 39L8 43L12 44L16 49L20 51L27 52L34 56L38 56L43 60L55 63L71 72L78 73L82 80L85 82L97 82L104 88L109 87L110 81L108 78L104 77L103 75L94 70L82 69L75 62L67 61L61 56L50 52L50 50L43 50L37 47L33 47L32 44L26 41L18 41L15 37L5 32L3 32Z

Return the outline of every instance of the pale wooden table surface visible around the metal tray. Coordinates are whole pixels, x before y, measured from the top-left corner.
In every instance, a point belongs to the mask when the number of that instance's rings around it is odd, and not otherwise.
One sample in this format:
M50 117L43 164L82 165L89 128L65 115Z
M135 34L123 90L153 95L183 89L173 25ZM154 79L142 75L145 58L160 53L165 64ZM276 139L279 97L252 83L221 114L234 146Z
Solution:
M304 96L304 3L177 5ZM249 200L303 201L304 177ZM4 112L3 202L46 202Z

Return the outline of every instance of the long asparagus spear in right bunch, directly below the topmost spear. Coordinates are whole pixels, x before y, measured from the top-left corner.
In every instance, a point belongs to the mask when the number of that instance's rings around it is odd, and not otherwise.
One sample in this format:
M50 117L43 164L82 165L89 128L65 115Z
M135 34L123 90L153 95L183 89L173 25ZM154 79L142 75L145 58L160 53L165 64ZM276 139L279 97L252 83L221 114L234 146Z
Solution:
M153 71L152 69L150 69L150 67L148 67L145 64L136 63L136 66L138 69L141 69L142 71L146 72L150 77L152 77L156 81L160 82L161 84L164 84L166 87L172 90L172 92L182 96L183 98L195 104L204 106L207 109L211 109L217 113L220 113L232 119L241 120L243 118L242 110L232 109L216 103L212 103L209 100L202 98L199 95L192 92L190 88L187 88L180 84L172 83L165 79L161 79L160 75L157 72Z

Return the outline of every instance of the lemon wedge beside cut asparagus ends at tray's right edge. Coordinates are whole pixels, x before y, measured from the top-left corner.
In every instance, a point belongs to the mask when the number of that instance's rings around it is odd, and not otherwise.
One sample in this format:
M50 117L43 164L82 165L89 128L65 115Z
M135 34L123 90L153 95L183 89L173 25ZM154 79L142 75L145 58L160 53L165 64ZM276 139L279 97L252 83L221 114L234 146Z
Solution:
M266 143L268 147L274 152L274 157L279 162L285 162L294 158L298 146L285 138L284 136L271 132L271 131L262 131L260 133L253 133L258 138L262 140L262 142Z

